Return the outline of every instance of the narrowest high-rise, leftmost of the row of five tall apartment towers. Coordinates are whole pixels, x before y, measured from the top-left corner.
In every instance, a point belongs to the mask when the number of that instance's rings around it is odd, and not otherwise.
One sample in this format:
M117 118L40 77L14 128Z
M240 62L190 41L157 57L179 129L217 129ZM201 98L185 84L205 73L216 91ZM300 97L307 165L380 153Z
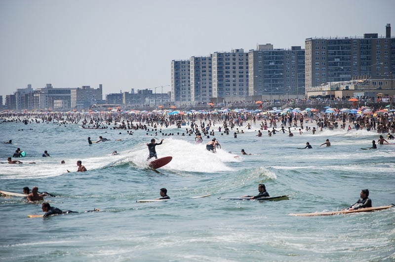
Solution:
M171 100L175 104L191 104L190 64L190 60L171 61Z

